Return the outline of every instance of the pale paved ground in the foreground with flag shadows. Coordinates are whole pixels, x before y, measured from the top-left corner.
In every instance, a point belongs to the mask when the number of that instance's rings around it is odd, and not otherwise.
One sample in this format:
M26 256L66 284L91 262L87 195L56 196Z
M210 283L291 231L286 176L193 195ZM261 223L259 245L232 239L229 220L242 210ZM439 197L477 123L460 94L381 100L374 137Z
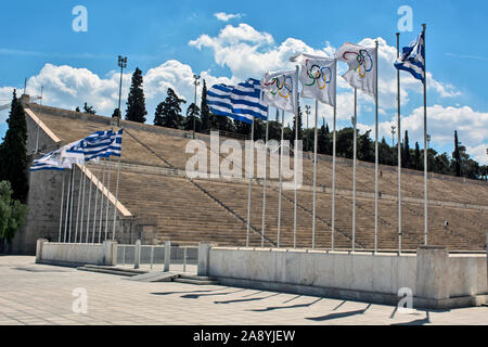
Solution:
M488 324L488 307L415 310L220 285L143 283L0 256L4 324ZM87 313L75 313L75 288ZM79 298L79 297L78 297ZM78 306L79 307L79 306Z

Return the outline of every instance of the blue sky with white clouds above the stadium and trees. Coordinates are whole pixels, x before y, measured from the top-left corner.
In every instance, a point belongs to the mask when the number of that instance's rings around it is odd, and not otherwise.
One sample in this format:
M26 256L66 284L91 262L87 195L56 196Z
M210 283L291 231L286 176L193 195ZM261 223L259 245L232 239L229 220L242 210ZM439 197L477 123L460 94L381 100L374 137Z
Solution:
M87 33L72 29L75 5L88 10ZM22 89L27 77L29 94L44 87L44 104L74 108L88 102L110 116L118 93L116 59L124 54L129 62L123 97L130 85L129 74L140 67L147 74L144 91L147 121L152 123L167 87L193 99L193 73L209 82L260 78L266 69L290 67L287 57L303 48L329 54L346 41L371 43L381 38L380 136L390 139L396 81L388 60L395 54L400 5L412 8L414 29L401 34L400 46L408 46L421 24L427 24L427 70L433 77L431 145L450 154L457 129L468 153L488 163L488 91L484 86L488 47L481 44L486 42L486 1L8 2L0 13L0 104L8 103L12 88ZM224 22L216 16L219 12L235 16ZM411 142L422 143L422 86L407 74L401 76L406 88L402 128L409 130ZM350 90L343 86L338 92L338 125L348 126ZM329 108L321 106L319 112L330 123ZM373 127L369 97L360 95L359 110L360 127ZM5 117L5 112L0 113L0 136L7 128Z

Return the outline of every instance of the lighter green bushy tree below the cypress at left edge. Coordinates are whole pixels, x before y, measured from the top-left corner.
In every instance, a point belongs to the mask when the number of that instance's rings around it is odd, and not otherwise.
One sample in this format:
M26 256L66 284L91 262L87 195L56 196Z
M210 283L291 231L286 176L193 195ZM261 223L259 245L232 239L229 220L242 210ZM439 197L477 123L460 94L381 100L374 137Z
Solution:
M21 229L27 217L27 206L12 198L12 188L9 181L0 181L0 239L11 243L15 232Z

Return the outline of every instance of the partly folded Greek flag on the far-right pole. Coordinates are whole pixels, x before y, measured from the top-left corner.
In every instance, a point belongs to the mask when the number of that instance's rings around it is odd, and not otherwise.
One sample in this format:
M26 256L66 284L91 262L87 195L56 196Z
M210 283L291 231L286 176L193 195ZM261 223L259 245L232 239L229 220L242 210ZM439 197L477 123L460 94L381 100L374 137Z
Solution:
M395 62L397 69L404 69L422 82L425 80L425 40L421 33L409 47L403 47L402 54Z

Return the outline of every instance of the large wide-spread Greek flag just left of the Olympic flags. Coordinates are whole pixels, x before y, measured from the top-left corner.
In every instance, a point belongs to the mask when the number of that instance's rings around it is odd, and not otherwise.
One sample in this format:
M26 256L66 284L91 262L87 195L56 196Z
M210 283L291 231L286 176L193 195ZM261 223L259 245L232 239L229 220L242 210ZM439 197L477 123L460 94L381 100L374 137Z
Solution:
M268 106L261 102L260 81L249 78L236 86L214 85L207 92L210 112L248 124L253 118L267 119Z

